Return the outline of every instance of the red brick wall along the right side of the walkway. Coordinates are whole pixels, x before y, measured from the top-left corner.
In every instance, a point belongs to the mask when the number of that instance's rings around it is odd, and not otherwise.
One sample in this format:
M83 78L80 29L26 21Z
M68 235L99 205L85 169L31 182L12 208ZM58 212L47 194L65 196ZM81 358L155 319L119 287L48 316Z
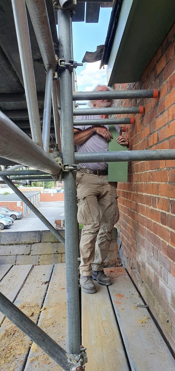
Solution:
M132 150L175 148L174 35L175 24L137 83L115 85L116 90L159 89L158 99L117 102L144 105L133 127L127 125ZM129 163L128 183L117 188L117 227L126 268L175 351L174 166L172 160Z

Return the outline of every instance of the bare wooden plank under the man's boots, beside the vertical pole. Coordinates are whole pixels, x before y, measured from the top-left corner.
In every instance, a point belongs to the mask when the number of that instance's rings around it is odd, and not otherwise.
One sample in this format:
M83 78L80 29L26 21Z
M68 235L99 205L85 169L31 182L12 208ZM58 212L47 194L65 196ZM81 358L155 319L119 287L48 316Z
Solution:
M82 344L87 348L86 371L127 371L120 334L108 289L98 285L97 293L82 292Z

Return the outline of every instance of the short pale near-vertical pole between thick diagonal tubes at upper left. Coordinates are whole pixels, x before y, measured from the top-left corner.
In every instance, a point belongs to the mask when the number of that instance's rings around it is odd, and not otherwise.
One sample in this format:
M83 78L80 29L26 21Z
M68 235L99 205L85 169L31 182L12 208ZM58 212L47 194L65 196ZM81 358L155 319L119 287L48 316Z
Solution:
M45 96L44 96L43 131L42 131L43 148L44 148L44 151L46 152L49 152L49 145L50 145L52 79L53 79L53 70L51 67L47 67L46 88L45 88Z

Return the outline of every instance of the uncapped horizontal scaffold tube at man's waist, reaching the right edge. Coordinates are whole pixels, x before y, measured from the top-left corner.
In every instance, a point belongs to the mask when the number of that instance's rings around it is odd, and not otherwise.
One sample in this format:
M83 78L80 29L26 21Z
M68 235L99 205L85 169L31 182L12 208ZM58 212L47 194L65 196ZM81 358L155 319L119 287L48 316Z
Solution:
M143 151L112 151L112 152L77 152L76 164L86 162L120 162L120 161L152 161L175 160L175 150L143 150Z

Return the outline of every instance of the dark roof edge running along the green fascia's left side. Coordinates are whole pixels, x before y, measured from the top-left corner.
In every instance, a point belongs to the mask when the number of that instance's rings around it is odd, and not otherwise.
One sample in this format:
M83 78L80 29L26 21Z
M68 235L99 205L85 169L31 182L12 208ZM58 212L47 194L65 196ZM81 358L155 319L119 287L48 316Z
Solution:
M113 43L113 40L114 40L115 31L116 31L117 25L118 25L118 19L119 19L119 15L120 15L120 11L121 11L122 2L123 2L123 0L116 0L115 3L114 3L114 7L113 7L112 12L111 12L107 37L106 37L106 40L105 40L105 46L104 46L104 50L103 50L103 54L102 54L102 58L101 58L100 68L102 66L108 64L110 52L111 52L111 49L112 49L112 43Z

